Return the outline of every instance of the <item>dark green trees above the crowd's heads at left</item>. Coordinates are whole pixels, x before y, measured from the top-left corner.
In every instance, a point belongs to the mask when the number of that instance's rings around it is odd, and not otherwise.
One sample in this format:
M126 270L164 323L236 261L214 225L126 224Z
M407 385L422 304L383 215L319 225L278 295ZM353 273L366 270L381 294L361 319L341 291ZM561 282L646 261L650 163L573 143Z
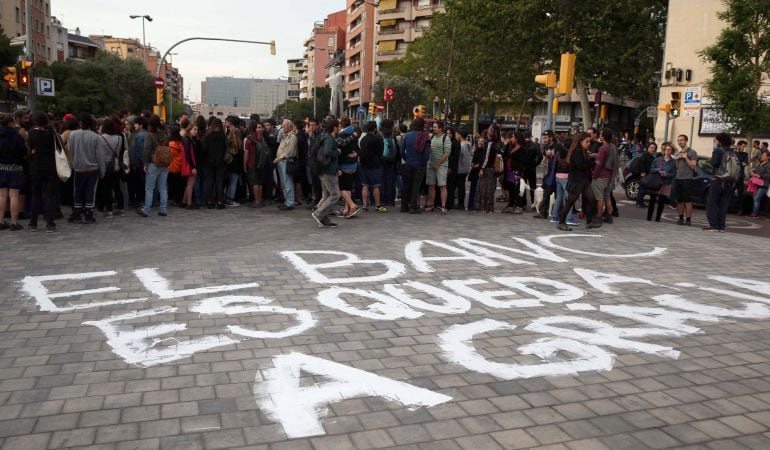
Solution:
M57 114L104 115L124 108L138 113L155 103L153 77L142 62L107 52L99 52L94 61L54 62L36 68L36 74L55 80L56 97L38 97L37 105Z

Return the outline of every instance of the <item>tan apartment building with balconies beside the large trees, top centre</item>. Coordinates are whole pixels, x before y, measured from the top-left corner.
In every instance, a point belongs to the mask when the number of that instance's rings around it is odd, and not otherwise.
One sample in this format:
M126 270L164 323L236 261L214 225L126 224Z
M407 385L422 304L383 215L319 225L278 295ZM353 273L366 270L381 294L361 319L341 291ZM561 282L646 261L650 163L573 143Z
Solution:
M377 55L375 80L383 63L399 59L415 39L425 34L444 0L380 0L377 7Z

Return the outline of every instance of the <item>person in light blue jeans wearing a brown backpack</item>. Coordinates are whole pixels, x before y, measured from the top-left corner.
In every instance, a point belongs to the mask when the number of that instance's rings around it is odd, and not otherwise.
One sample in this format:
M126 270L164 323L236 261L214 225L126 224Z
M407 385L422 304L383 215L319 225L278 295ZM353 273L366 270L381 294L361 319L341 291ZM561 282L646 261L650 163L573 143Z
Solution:
M161 217L168 215L168 166L155 165L153 162L158 147L166 145L166 139L160 126L160 117L153 114L147 122L147 136L144 139L144 152L142 153L147 181L144 185L144 207L136 210L136 213L142 217L147 217L150 214L156 188L160 194L158 215Z

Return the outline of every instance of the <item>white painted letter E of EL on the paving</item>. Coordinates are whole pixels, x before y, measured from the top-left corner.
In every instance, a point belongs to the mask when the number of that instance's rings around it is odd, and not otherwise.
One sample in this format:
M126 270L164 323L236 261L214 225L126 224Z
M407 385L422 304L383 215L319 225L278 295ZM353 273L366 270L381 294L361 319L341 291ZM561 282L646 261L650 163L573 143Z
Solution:
M104 272L85 272L85 273L66 273L61 275L40 275L40 276L27 276L21 280L21 291L24 295L29 296L35 300L38 308L41 311L46 312L67 312L76 311L79 309L99 308L109 305L124 305L127 303L140 303L147 301L147 298L134 298L127 300L110 300L104 302L90 302L81 303L77 305L67 304L66 306L58 306L54 303L55 298L75 297L90 294L102 294L106 292L120 291L119 287L110 286L97 289L83 289L79 291L59 292L51 294L43 283L46 281L64 281L64 280L87 280L91 278L102 278L115 276L115 271Z

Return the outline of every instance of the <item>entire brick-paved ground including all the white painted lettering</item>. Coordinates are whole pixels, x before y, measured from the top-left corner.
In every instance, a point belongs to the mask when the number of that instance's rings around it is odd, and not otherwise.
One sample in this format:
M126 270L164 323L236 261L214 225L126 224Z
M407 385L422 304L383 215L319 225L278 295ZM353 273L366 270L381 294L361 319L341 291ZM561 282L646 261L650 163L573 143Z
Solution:
M770 448L766 239L339 222L1 232L0 447Z

